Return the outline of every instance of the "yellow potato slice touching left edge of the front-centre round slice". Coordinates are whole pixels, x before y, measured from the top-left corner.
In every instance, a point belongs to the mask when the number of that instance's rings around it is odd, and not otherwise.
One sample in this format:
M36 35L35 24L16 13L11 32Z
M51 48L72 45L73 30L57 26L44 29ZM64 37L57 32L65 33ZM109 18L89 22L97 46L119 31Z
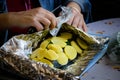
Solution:
M49 60L56 60L58 58L58 54L56 54L55 51L49 49L49 50L45 51L44 57L49 59Z

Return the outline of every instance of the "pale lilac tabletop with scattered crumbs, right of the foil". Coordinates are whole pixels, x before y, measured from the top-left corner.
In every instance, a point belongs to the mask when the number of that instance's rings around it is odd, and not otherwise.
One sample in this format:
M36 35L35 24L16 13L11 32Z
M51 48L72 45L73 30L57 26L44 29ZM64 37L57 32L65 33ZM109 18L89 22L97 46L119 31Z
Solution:
M88 33L92 35L111 36L120 31L120 18L106 19L87 24ZM113 63L104 56L82 77L81 80L120 80L120 71L113 68Z

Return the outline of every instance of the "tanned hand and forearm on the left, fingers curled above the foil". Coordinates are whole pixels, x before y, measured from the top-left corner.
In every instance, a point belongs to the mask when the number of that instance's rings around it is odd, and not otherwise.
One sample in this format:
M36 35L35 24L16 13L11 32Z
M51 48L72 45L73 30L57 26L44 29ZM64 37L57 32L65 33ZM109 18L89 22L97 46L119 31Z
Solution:
M11 12L9 24L20 27L33 26L37 31L52 29L56 26L57 20L53 13L39 7L28 11Z

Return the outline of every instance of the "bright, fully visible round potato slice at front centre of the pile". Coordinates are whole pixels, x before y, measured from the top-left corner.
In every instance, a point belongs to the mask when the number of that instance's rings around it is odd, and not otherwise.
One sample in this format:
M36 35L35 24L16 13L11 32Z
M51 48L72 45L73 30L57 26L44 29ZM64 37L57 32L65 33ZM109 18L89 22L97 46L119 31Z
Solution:
M65 53L61 52L58 54L58 63L61 65L66 65L68 63L68 57L65 55Z

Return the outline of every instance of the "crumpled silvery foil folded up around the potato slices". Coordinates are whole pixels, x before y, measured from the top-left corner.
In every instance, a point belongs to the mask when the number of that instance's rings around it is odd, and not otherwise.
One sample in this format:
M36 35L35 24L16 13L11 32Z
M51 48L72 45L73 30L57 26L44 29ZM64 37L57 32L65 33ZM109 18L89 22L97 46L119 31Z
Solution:
M59 33L62 32L72 32L79 38L84 39L90 46L87 51L84 51L83 57L78 57L75 63L67 66L66 69L51 68L47 64L29 59L29 54L38 48L41 41L51 36L48 30L14 36L1 46L1 68L4 69L4 66L8 66L5 68L6 70L30 80L79 80L78 76L88 65L89 61L102 49L101 42L66 23L59 30Z

